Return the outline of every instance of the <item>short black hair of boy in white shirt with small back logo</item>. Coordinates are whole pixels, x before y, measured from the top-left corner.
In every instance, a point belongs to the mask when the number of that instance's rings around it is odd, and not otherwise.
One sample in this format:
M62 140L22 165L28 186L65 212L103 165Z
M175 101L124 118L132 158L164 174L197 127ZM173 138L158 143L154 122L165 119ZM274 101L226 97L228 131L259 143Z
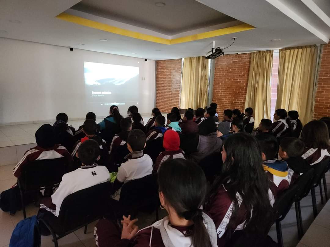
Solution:
M94 164L99 155L100 146L95 140L86 140L78 148L79 160L86 166Z

